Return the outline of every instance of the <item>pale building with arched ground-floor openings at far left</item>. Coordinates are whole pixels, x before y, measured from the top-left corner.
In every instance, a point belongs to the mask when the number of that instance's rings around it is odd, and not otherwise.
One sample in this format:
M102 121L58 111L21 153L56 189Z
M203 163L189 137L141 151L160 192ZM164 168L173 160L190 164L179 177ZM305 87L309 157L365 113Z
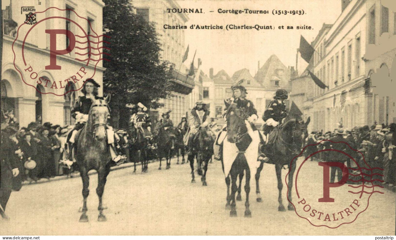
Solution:
M72 9L78 13L78 15L85 17L91 23L92 29L95 32L102 32L102 9L105 4L101 0L87 0L81 2L79 0L40 0L42 5L39 5L39 0L11 0L10 6L7 6L5 10L2 10L2 22L3 22L3 45L2 45L2 79L1 79L1 100L2 109L10 110L15 112L19 120L19 125L21 127L26 127L30 122L51 122L53 124L59 124L61 126L73 124L74 119L70 116L70 110L74 103L74 100L81 94L81 91L70 92L65 95L70 89L79 89L82 86L82 81L76 83L69 82L64 88L51 89L58 95L46 94L49 88L44 88L43 84L37 84L36 88L40 92L36 91L32 86L28 86L23 83L23 79L29 78L29 73L24 71L25 66L15 64L15 69L13 64L13 54L11 46L16 37L16 31L18 26L23 24L27 18L25 12L21 11L23 6L32 6L35 11L44 11L48 7L58 7L59 9ZM53 10L53 11L52 11ZM49 16L60 16L66 17L68 19L73 19L75 16L70 10L55 12L54 9L46 11L45 17ZM17 24L17 27L13 27ZM40 26L40 24L38 25ZM85 31L90 32L88 24ZM66 29L74 31L75 26L70 24L70 21L65 19L59 19L58 21L47 21L45 29ZM38 28L38 27L37 27ZM32 34L37 34L37 28L32 30ZM21 33L19 33L21 34ZM27 41L25 43L25 56L29 60L34 60L35 62L49 62L49 36L44 41L43 49L37 47L37 43ZM58 45L68 45L67 38L60 37L57 38ZM101 46L101 43L99 43ZM22 41L18 38L15 41L14 49L15 52L21 51ZM88 51L88 50L85 50ZM75 60L76 56L74 54L65 54L57 56L57 65L62 66L62 69L58 71L46 71L44 68L37 72L37 79L40 77L48 79L54 82L55 80L63 80L71 77L69 69L80 69L82 66L89 70L95 68L96 62L90 62L88 66L85 63ZM95 58L92 56L91 58ZM105 69L102 67L102 62L96 66L95 81L103 85L103 71ZM85 79L84 79L85 80ZM103 88L99 88L99 95L103 94Z

